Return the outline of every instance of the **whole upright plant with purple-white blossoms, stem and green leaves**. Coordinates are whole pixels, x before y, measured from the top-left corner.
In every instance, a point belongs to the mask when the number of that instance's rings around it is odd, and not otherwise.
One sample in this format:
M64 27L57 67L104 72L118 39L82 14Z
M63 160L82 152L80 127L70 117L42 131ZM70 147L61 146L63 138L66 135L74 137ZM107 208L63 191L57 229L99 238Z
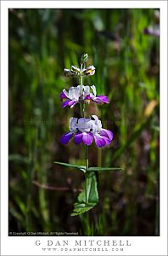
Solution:
M81 55L81 66L71 66L70 69L64 68L64 75L66 77L78 77L80 85L76 87L71 86L69 90L62 90L60 93L60 99L63 102L62 108L69 107L73 108L76 104L80 104L81 118L70 118L70 131L64 133L60 138L60 143L67 144L70 139L76 145L85 144L85 155L86 155L86 165L81 168L77 166L78 169L82 170L85 175L85 185L81 194L78 195L77 202L75 203L74 212L71 216L80 215L92 209L98 203L98 189L97 180L95 175L95 168L104 169L103 167L90 167L88 160L88 146L92 145L94 141L98 148L103 148L109 145L113 139L113 132L106 130L102 127L101 120L98 119L97 115L92 115L86 118L86 105L95 102L97 104L107 104L109 103L109 98L104 95L98 95L96 87L94 85L84 85L83 77L92 76L95 73L96 68L94 66L86 67L86 62L88 59L87 54ZM56 162L59 163L59 162ZM59 163L64 166L71 166L65 163ZM91 191L90 193L89 191ZM81 203L82 202L82 203Z

